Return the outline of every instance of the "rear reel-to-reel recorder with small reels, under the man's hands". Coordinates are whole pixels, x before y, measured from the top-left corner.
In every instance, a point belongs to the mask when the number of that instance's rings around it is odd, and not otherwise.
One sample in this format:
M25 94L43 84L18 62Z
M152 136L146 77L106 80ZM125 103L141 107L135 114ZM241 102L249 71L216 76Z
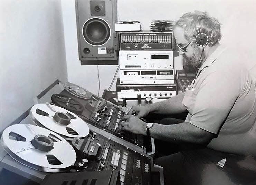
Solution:
M72 83L65 83L60 94L51 97L53 104L70 111L80 111L78 115L94 126L109 132L123 140L144 147L144 137L121 130L121 118L129 111L127 107L118 106L110 101L98 97L83 87Z

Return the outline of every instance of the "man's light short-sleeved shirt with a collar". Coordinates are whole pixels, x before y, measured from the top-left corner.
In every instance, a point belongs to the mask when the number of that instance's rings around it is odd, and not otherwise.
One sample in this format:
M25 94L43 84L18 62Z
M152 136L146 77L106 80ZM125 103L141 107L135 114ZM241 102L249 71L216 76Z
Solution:
M208 147L256 156L256 90L243 59L220 45L203 63L183 105L185 122L216 134Z

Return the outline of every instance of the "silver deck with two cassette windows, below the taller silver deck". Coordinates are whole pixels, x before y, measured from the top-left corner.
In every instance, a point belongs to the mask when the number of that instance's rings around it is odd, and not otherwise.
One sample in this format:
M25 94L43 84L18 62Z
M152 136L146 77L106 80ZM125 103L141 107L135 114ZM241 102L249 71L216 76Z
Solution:
M174 69L120 69L120 84L174 84Z

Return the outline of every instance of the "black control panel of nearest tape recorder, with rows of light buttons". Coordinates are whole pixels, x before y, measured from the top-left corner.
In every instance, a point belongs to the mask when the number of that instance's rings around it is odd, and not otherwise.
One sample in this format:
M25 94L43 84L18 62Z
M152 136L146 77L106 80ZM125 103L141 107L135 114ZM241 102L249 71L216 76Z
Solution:
M150 185L151 158L116 143L103 135L90 133L85 139L74 138L76 171L120 172L121 185Z

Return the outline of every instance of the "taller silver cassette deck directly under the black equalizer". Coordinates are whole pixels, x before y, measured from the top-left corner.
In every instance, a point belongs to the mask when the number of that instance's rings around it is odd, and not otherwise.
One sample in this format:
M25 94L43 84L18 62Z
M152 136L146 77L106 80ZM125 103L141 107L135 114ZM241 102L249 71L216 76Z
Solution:
M120 69L172 69L173 51L120 51Z

